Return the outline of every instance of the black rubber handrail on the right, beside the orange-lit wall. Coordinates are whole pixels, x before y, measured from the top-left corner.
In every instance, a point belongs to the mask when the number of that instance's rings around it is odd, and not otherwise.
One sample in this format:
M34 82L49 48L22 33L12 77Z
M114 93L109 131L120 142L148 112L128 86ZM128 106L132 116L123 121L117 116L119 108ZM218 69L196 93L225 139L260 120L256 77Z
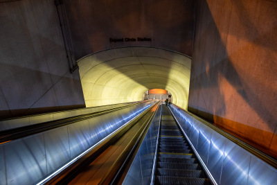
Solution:
M174 106L178 107L177 105L174 105ZM276 159L270 157L269 155L265 154L264 152L262 152L256 148L253 148L253 146L250 146L249 144L244 143L244 141L241 141L240 139L236 138L235 136L232 136L231 134L220 129L219 127L216 127L215 125L213 125L213 123L206 121L204 118L196 116L195 114L188 112L185 109L182 109L181 107L178 107L178 108L181 109L182 111L186 112L187 114L190 114L190 116L193 116L193 118L196 118L198 121L201 121L208 127L211 127L211 129L215 130L217 133L221 134L222 136L225 136L227 139L233 141L233 143L236 143L238 146L244 148L244 150L247 150L251 154L258 157L259 159L262 159L262 161L265 161L270 166L277 168L277 160Z

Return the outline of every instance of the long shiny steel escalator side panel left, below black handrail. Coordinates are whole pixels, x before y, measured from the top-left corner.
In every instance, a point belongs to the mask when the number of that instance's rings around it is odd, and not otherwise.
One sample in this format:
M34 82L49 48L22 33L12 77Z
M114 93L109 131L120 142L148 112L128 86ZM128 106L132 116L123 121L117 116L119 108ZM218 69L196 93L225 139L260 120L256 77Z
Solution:
M136 105L133 108L136 111L141 109L142 112L143 108L146 109L148 105L152 104L143 103L143 105ZM133 118L141 112L137 112L131 117ZM1 159L4 159L6 168L1 168L0 164L0 175L4 174L7 177L8 184L35 184L39 182L39 179L44 179L71 161L76 155L96 144L102 137L107 136L111 132L111 127L116 130L119 125L110 121L114 120L113 116L110 114L109 118L105 118L107 125L102 121L98 122L98 118L91 118L87 121L64 125L8 143L1 143L0 147L3 148L3 158ZM120 124L123 123L126 121ZM105 132L105 130L108 131Z

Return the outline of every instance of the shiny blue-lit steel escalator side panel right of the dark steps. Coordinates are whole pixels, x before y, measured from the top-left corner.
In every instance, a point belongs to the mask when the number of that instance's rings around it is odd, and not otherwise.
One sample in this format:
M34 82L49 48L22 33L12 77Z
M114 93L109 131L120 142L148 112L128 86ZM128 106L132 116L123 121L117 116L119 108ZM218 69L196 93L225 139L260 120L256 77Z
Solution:
M276 184L277 169L219 132L208 127L205 121L188 114L183 109L171 104L170 109L183 128L188 140L193 144L199 159L207 168L209 177L216 184ZM192 130L199 133L193 136Z

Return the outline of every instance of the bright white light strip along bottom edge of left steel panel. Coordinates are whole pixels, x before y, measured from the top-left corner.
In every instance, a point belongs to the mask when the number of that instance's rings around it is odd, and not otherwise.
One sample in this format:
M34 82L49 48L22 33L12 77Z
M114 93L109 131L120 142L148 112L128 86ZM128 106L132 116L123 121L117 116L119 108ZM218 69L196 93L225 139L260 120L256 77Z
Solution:
M138 112L142 112L143 110L147 109L148 107L150 107L151 105L148 105L146 107L144 107L143 109L140 109L139 111L135 112L134 114L138 113ZM131 115L134 115L131 114ZM134 118L138 117L140 114L136 115ZM127 117L129 118L129 116ZM127 121L127 123L125 123L124 125L121 125L120 127L118 127L118 129L114 130L114 132L120 130L120 128L122 128L123 126L127 125L129 122L131 122L132 120L134 120L134 118L132 118L131 120ZM126 118L125 118L126 119ZM125 120L123 119L123 120ZM122 121L122 120L121 120ZM116 122L119 123L120 121ZM106 129L105 129L106 130ZM111 132L111 134L114 134L114 132ZM90 150L92 150L93 148L95 148L99 143L101 143L102 141L104 141L105 139L107 139L109 136L111 136L111 134L105 136L105 138L101 139L100 141L98 141L98 143L94 144L93 146L91 146L91 148L85 150L84 152L82 152L80 155L78 155L77 157L75 157L74 159L72 159L71 161L69 161L67 164L65 164L64 166L62 166L61 168L59 168L58 170L56 170L54 173L52 173L51 175L48 175L48 177L46 177L45 179L43 179L41 182L37 183L37 185L40 184L44 184L45 182L48 181L48 179L51 179L53 176L57 175L57 173L60 173L62 170L64 170L66 167L70 166L71 164L73 164L75 161L77 161L78 159L80 159L82 156L84 156L85 154L87 154L87 152L89 152Z

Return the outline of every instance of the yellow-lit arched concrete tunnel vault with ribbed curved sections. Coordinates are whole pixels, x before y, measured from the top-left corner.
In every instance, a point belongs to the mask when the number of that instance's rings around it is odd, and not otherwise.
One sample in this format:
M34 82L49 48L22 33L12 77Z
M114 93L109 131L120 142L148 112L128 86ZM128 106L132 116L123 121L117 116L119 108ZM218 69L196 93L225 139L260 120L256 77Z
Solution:
M87 107L142 100L148 89L166 89L187 109L190 58L147 47L110 49L78 60Z

